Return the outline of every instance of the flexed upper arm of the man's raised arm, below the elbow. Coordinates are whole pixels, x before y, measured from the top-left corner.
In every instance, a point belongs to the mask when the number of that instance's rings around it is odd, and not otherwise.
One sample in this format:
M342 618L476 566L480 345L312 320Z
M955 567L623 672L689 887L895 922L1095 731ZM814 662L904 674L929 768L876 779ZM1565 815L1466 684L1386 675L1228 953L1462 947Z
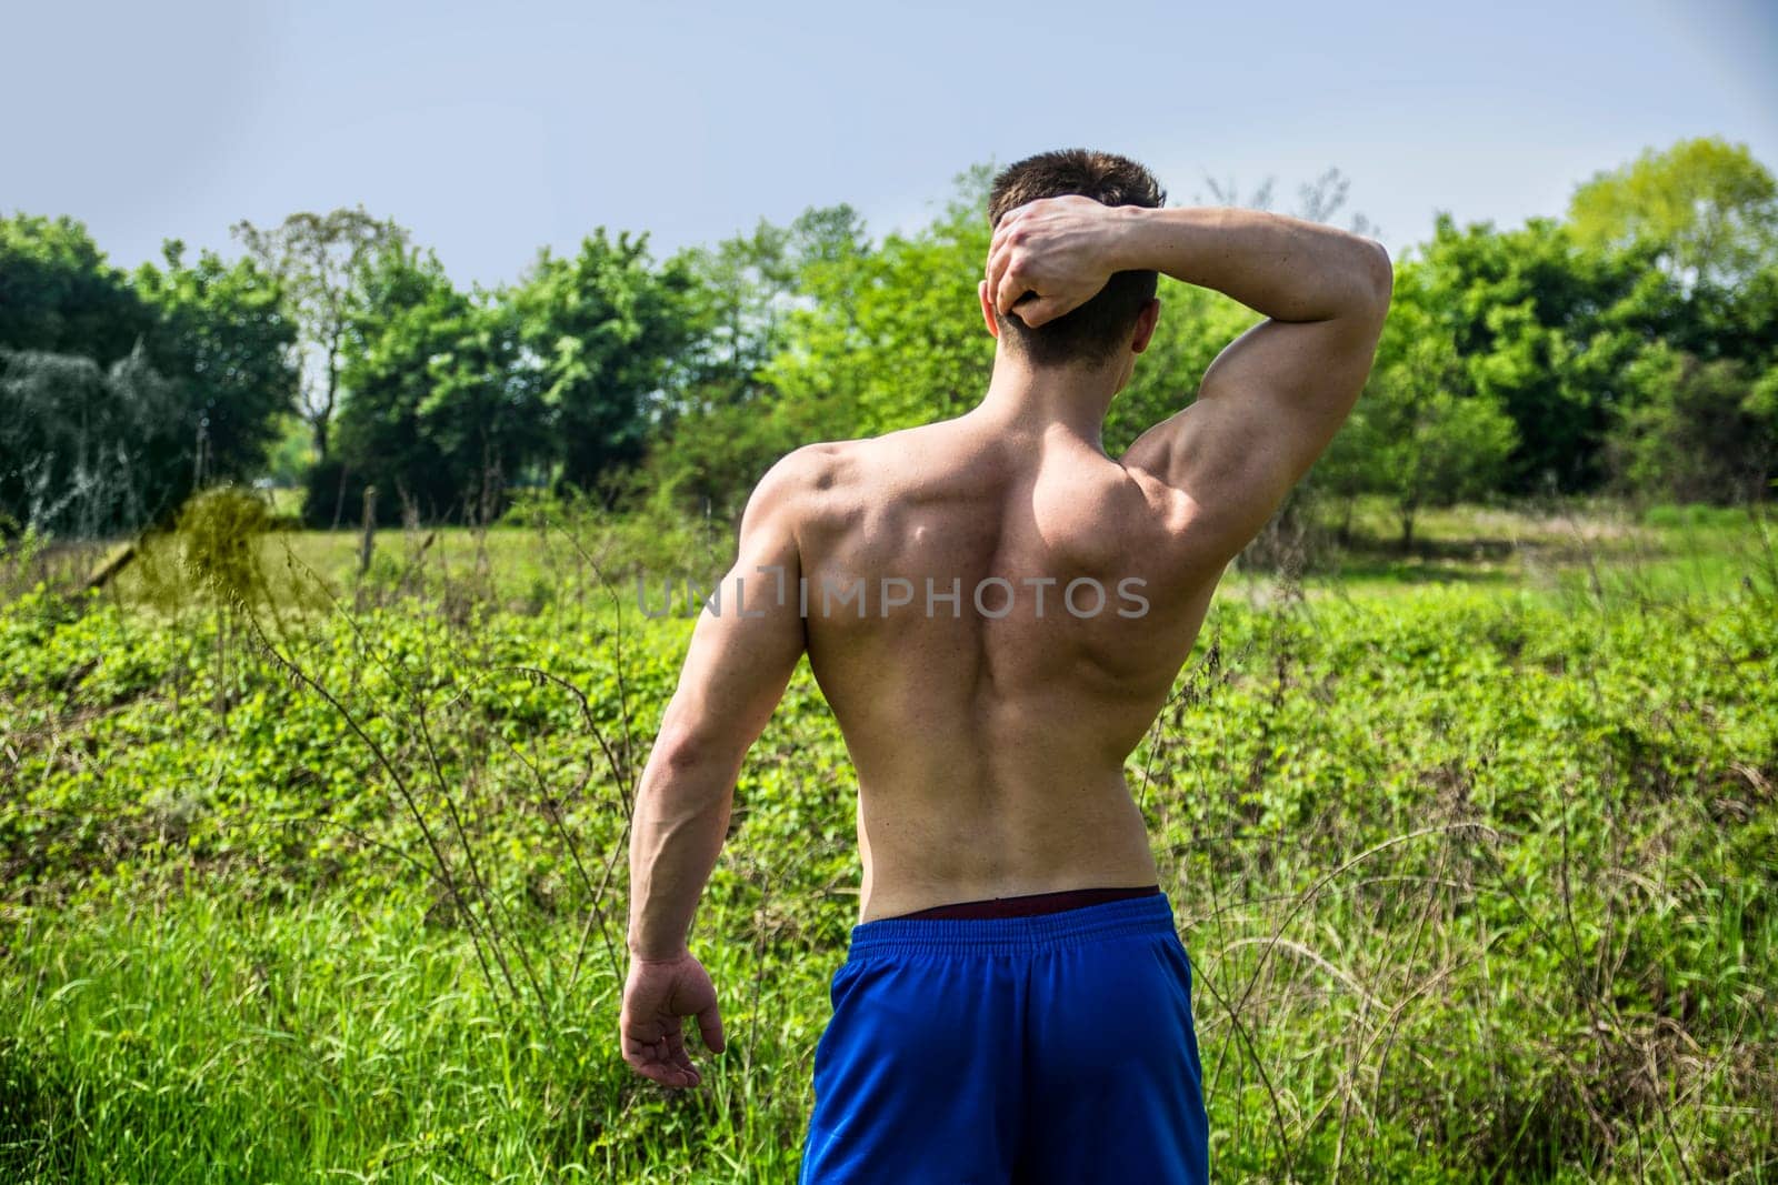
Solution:
M1261 322L1211 362L1197 402L1131 446L1127 464L1184 490L1234 554L1339 432L1374 348L1369 323Z

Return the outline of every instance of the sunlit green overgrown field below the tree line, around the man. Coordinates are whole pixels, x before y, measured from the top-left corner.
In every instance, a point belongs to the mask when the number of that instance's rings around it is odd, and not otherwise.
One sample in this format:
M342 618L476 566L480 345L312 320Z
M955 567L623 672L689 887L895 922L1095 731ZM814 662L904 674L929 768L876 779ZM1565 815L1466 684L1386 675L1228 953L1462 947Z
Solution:
M793 1180L857 906L805 668L693 934L729 1052L669 1094L615 1046L690 629L626 581L708 574L718 526L519 515L368 565L164 537L85 600L55 588L103 549L14 556L0 1180ZM1778 1181L1771 526L1415 537L1360 506L1344 551L1234 572L1129 762L1216 1178Z

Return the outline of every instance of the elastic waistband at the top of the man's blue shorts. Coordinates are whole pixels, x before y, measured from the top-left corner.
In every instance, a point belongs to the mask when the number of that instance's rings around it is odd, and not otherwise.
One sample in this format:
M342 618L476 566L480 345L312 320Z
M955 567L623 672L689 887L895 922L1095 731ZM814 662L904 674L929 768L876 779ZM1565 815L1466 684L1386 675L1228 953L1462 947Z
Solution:
M878 954L1019 954L1056 947L1079 947L1131 934L1173 934L1173 906L1166 894L1108 901L1081 910L1038 917L996 919L903 919L864 922L852 927L848 958Z

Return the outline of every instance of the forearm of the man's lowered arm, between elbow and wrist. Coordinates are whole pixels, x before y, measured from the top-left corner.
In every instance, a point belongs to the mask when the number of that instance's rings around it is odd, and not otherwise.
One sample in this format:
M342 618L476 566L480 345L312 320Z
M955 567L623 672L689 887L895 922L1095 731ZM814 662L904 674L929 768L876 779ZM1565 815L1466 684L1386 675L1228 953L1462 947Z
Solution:
M677 762L656 750L629 824L629 952L672 959L686 950L697 899L717 867L734 805L734 766Z

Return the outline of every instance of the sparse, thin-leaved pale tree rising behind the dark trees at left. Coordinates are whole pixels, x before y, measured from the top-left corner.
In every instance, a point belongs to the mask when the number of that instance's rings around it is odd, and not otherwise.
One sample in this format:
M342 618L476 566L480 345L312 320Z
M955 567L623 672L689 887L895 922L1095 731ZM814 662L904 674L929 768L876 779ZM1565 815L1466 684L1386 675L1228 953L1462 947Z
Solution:
M340 398L340 350L352 316L352 281L366 261L407 231L354 210L293 213L276 227L236 222L235 236L277 279L297 320L302 350L302 414L315 453L327 458L327 432Z

